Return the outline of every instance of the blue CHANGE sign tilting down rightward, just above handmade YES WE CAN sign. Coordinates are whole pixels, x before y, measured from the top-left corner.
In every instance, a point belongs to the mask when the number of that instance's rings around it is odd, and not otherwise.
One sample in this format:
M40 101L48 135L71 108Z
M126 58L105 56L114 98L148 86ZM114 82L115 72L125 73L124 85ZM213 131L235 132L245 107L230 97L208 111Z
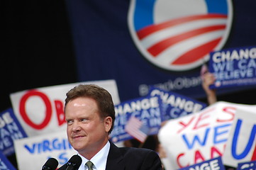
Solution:
M173 91L164 91L154 86L150 88L150 96L160 96L162 99L162 120L179 118L183 115L196 113L206 108L206 103L196 101L192 98L174 93Z

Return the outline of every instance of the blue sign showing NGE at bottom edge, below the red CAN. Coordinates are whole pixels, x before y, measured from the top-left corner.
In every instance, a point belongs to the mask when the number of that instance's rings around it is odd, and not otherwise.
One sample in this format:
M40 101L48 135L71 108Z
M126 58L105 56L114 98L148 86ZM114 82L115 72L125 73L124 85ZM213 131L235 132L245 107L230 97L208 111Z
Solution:
M225 170L225 167L223 166L221 157L216 157L216 158L207 160L205 162L201 162L199 164L187 166L187 167L179 169L179 170L204 170L204 169Z

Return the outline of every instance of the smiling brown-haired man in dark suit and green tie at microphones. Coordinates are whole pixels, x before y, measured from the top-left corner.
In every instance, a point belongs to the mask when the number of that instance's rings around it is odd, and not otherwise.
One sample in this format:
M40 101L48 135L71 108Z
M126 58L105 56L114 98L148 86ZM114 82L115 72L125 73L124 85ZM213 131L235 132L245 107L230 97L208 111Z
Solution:
M160 170L155 151L143 148L116 147L109 141L115 110L111 94L94 84L80 84L67 92L65 99L67 137L82 158L78 170ZM61 169L65 169L66 165ZM89 169L91 170L91 168Z

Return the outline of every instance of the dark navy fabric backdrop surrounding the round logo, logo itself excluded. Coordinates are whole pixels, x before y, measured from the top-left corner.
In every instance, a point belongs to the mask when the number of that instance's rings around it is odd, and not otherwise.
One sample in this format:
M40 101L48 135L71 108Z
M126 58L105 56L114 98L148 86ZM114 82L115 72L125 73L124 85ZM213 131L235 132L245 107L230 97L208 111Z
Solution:
M256 43L256 1L233 1L233 21L222 49ZM156 85L192 98L204 98L201 66L171 71L149 62L128 28L128 0L67 0L79 81L116 79L121 101L148 94ZM202 63L203 64L203 63ZM221 89L225 93L236 89Z

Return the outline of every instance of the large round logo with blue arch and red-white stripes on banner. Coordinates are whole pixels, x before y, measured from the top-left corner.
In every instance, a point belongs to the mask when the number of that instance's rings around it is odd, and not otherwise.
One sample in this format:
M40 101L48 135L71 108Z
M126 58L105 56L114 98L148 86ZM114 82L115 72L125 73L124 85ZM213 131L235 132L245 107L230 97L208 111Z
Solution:
M221 50L232 16L229 0L131 0L128 27L138 50L152 64L187 71Z

